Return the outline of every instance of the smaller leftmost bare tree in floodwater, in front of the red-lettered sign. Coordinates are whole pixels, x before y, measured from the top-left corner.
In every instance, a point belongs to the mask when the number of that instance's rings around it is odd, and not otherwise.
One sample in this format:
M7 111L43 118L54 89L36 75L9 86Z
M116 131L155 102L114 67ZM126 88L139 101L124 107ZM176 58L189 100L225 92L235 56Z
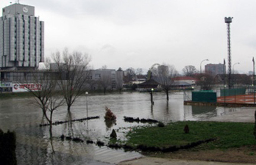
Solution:
M20 85L34 96L36 106L39 106L43 116L49 122L50 137L52 137L53 112L65 103L57 93L57 74L54 72L31 72Z

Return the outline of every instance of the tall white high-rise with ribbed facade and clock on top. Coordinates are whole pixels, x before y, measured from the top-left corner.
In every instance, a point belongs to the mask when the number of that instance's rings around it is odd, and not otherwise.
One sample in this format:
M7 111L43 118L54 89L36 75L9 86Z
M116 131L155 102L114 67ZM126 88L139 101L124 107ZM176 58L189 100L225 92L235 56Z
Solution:
M0 69L37 69L44 61L44 22L35 7L12 4L0 17Z

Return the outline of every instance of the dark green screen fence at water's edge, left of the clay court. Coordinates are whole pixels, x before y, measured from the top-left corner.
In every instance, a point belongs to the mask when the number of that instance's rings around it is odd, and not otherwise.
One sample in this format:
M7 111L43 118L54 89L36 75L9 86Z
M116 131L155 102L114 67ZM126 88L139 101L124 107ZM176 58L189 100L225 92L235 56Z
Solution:
M217 102L217 94L213 91L196 91L192 92L192 101L196 102Z

